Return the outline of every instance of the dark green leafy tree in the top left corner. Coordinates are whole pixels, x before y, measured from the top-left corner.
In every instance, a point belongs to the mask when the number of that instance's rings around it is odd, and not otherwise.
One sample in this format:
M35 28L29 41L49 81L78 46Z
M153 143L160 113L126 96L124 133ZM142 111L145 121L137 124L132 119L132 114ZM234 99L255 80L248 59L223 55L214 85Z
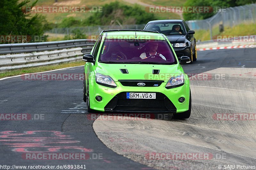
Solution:
M1 0L0 1L0 35L29 35L42 36L45 29L51 29L45 17L41 15L30 16L24 11L30 1Z

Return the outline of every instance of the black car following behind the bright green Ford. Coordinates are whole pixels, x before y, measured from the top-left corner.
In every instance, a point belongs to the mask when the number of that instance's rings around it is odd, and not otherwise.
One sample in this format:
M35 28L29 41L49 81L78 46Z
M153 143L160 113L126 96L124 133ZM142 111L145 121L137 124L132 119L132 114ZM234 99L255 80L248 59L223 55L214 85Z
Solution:
M188 56L196 61L196 39L195 31L189 29L185 21L181 19L168 19L149 21L144 30L158 31L166 35L180 60L181 56Z

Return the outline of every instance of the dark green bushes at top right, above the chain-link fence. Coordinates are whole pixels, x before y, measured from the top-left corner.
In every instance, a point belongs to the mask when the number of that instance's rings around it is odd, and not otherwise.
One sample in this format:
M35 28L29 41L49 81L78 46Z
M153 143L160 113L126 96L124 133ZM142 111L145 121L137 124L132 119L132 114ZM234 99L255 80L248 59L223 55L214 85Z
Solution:
M184 20L206 19L213 16L218 9L255 3L256 0L187 0L184 6L210 6L209 13L183 13Z

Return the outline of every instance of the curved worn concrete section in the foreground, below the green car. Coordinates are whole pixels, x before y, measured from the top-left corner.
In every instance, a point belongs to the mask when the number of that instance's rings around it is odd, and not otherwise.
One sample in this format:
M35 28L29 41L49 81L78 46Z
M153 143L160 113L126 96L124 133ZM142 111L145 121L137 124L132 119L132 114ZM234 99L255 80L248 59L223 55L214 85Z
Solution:
M104 127L104 128L103 128ZM113 151L157 169L216 168L219 164L248 164L256 158L255 140L226 132L163 120L95 121L93 128ZM107 131L102 131L106 130ZM209 134L211 134L209 136ZM210 153L210 160L148 159L151 153ZM221 159L216 155L224 155ZM251 157L251 158L247 158Z

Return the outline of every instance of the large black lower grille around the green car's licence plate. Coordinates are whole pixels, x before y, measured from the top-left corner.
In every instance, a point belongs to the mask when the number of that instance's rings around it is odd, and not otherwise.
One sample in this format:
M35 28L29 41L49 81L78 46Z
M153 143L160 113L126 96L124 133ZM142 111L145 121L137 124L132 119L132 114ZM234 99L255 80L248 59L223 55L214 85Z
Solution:
M158 92L156 92L156 99L126 99L126 92L121 92L110 100L104 109L126 112L176 112L177 110L167 96Z

